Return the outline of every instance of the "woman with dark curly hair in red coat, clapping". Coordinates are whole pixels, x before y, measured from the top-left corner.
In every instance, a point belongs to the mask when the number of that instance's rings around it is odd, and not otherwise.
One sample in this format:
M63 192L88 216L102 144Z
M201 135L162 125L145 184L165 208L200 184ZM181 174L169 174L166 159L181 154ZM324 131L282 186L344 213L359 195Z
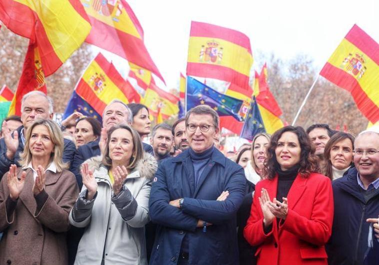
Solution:
M276 131L267 148L250 217L247 242L257 246L258 265L326 265L325 243L331 235L333 194L330 179L318 171L304 129Z

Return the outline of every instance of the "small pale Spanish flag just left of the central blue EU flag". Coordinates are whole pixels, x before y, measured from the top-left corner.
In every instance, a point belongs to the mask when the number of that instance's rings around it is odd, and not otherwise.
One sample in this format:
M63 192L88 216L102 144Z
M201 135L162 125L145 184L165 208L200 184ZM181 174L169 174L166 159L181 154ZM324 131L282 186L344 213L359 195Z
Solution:
M157 117L160 112L163 119L168 119L179 112L178 101L178 97L151 82L140 103L148 107L152 116Z

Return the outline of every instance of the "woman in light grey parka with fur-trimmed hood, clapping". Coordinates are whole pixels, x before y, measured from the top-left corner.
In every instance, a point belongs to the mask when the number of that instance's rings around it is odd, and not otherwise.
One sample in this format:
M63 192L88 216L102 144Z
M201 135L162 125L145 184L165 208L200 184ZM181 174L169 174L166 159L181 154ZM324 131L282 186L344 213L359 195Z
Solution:
M144 226L156 168L134 129L109 129L102 160L83 163L83 188L69 216L73 226L85 227L76 265L147 264Z

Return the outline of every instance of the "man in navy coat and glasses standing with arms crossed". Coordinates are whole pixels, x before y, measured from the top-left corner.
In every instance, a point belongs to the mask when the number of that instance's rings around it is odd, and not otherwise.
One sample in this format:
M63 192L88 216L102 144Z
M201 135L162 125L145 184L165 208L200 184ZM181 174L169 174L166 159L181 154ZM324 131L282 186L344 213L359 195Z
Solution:
M190 148L162 161L151 187L150 218L158 226L150 265L238 264L243 169L214 148L219 118L212 108L192 108L185 125Z

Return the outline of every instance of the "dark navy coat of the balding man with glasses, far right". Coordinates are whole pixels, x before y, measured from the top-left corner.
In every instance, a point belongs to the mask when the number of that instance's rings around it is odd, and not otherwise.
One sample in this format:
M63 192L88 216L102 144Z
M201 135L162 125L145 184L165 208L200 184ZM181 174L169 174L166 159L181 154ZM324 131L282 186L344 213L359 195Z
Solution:
M334 219L332 233L326 245L329 265L379 265L379 243L369 234L367 218L379 215L379 189L366 201L356 180L356 168L332 182ZM368 237L373 248L368 248ZM366 257L366 258L365 258Z

